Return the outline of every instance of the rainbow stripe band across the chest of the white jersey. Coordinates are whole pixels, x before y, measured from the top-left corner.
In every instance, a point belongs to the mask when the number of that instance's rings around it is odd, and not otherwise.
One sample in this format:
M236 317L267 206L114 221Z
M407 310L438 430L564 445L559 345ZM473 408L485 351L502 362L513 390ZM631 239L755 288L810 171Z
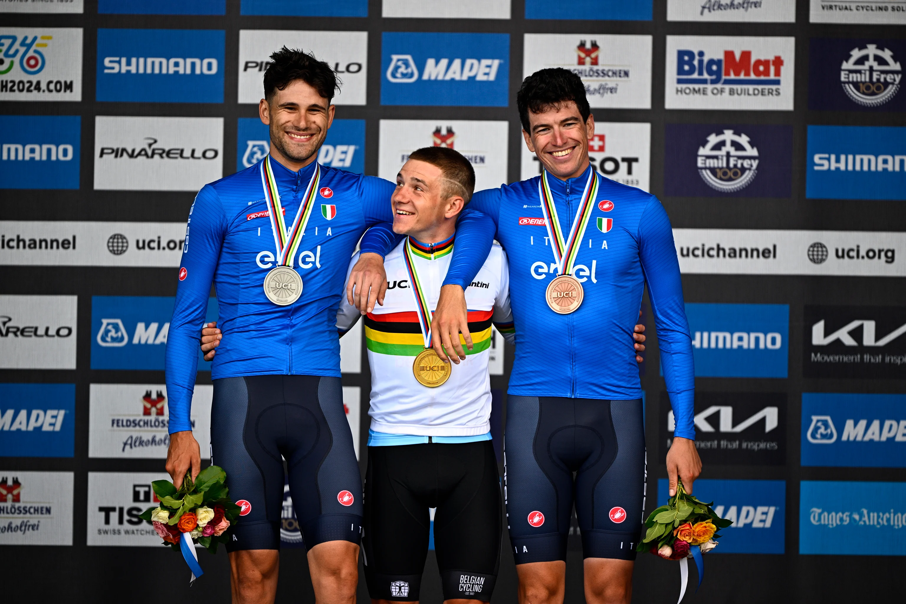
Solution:
M491 347L491 316L494 311L469 311L468 331L472 334L472 350L459 334L466 355L477 354ZM499 327L498 327L499 329ZM400 357L415 357L425 347L422 345L421 326L417 312L389 312L365 315L365 345L371 352Z

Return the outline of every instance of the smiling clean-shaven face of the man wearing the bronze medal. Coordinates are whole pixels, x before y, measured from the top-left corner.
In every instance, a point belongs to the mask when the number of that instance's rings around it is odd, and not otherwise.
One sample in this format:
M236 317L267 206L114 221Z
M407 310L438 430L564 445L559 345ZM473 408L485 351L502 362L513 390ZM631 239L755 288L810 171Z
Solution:
M540 113L528 112L525 145L545 169L558 178L577 177L588 166L588 141L594 136L594 116L582 120L574 101L564 101Z

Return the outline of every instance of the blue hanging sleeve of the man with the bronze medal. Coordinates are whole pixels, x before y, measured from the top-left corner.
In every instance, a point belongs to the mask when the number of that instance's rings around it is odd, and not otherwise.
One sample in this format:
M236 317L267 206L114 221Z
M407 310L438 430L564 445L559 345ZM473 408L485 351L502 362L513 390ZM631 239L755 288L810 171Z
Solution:
M655 197L639 224L641 267L658 331L660 365L676 418L674 436L695 439L695 367L682 297L679 261L667 212Z

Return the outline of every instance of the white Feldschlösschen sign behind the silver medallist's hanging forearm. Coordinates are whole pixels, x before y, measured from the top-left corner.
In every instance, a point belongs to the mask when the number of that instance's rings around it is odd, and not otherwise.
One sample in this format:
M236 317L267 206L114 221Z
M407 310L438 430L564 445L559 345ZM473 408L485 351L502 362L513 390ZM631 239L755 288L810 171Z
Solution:
M164 384L92 384L89 457L166 459L169 398ZM192 431L201 455L210 452L212 386L192 395Z

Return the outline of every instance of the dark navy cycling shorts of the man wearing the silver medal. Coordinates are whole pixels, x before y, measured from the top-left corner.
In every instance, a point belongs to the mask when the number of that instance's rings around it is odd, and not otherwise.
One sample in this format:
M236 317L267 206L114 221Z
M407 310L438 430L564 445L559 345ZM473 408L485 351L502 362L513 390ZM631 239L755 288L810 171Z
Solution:
M361 474L339 378L214 380L211 463L243 507L226 551L280 549L284 463L305 546L361 535Z

